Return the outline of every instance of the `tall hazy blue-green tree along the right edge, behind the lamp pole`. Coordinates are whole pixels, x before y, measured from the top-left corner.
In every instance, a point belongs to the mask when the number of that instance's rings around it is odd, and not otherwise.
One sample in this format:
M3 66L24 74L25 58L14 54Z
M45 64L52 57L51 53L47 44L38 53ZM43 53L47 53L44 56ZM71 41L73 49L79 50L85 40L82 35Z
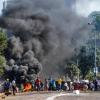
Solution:
M89 16L91 19L91 23L93 25L94 34L96 36L96 67L100 69L100 11L92 12ZM91 33L91 34L93 34ZM94 36L91 39L91 43L93 43ZM93 45L93 44L92 44Z

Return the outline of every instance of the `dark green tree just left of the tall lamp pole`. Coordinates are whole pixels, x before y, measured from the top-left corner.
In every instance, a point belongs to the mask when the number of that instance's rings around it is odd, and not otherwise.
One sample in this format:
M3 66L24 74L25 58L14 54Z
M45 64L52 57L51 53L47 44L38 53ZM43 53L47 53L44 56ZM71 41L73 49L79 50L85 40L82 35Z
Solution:
M78 55L78 59L82 79L85 79L90 70L93 69L94 56L92 53L87 53L86 46L82 46Z

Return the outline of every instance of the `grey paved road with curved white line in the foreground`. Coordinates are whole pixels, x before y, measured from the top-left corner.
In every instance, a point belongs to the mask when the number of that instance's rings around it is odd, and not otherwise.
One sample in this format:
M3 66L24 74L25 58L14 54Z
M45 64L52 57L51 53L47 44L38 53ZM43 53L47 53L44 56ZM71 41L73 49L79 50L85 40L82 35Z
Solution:
M60 96L64 94L63 96ZM5 100L100 100L100 93L85 93L81 95L65 93L28 93L6 97Z

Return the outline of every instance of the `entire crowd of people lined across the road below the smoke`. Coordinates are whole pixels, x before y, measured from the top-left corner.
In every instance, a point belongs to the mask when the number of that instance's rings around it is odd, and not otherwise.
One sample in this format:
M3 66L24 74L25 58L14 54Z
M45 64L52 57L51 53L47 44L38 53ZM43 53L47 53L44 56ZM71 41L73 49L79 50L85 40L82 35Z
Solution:
M37 77L33 82L26 82L21 84L23 86L21 92L25 91L73 91L73 90L98 90L98 82L96 80L89 83L80 82L67 82L61 78L55 80L52 78L45 79L44 81ZM4 83L4 92L9 95L12 91L13 95L19 92L20 89L15 80L12 82L7 79Z

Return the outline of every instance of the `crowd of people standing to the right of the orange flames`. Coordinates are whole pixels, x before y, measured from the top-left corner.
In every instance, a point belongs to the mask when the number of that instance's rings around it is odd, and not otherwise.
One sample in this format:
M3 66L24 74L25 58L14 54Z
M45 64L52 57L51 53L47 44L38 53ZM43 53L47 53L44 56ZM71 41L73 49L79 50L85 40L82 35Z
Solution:
M98 91L100 90L100 84L97 80L93 80L92 82L67 82L63 79L59 78L55 79L45 79L44 83L37 78L35 80L35 89L36 90L46 90L46 91L73 91L73 90L91 90L91 91Z

